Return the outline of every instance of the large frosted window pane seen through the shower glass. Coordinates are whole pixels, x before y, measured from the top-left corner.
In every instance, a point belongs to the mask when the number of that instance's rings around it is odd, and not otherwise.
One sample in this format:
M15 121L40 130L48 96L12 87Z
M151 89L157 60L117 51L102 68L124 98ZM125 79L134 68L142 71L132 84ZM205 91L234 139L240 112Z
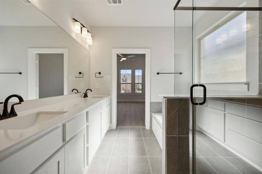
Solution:
M236 16L236 15L235 15ZM201 83L246 81L246 12L220 23L200 39Z

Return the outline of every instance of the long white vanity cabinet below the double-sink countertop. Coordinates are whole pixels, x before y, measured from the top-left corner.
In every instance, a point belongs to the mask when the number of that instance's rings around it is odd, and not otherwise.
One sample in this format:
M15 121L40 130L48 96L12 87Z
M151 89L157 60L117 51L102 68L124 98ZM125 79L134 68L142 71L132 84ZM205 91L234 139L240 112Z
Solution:
M0 159L0 174L83 173L110 126L110 118L110 97L106 97Z

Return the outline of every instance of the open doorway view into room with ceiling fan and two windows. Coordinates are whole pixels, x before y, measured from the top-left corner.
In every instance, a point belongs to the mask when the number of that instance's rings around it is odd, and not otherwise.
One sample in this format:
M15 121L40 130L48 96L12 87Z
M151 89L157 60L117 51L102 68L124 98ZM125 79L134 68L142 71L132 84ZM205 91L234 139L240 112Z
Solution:
M117 126L145 127L145 54L117 55Z

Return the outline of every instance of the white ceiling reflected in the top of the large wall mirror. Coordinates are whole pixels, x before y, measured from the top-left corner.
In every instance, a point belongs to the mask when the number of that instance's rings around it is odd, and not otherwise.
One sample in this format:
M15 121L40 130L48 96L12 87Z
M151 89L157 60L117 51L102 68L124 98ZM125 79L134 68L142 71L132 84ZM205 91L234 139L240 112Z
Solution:
M57 26L32 4L0 0L0 26Z

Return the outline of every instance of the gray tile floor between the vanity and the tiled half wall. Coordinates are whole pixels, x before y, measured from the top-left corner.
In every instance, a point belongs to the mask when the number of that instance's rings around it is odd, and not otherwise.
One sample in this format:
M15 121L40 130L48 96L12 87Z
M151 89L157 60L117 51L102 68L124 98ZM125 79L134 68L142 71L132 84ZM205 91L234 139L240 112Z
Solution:
M86 174L161 174L162 149L152 129L119 127L106 132Z

